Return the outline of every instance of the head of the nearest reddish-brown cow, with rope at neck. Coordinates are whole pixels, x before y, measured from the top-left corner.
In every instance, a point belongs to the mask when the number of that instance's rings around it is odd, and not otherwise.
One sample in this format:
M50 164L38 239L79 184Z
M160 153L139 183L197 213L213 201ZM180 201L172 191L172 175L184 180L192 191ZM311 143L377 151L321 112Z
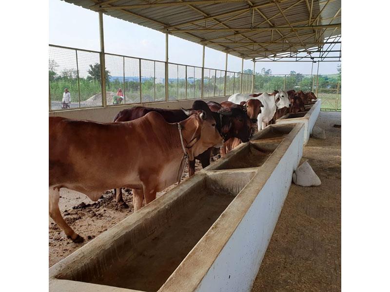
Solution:
M204 110L181 110L189 116L180 122L180 125L190 160L194 160L195 156L210 147L223 145L223 139L215 127L216 122L211 114L207 116Z

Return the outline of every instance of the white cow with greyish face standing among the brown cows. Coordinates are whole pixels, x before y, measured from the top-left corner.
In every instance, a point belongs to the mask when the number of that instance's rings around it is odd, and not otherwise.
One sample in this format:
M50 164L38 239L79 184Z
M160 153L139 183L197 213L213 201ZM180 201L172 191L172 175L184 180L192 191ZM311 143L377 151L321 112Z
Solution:
M289 108L290 106L289 95L285 91L279 91L275 95L264 92L257 97L250 96L250 94L234 93L229 97L228 101L240 104L240 102L247 101L251 98L260 100L264 105L264 108L261 109L261 113L257 116L257 127L259 130L267 126L266 124L272 120L277 109Z

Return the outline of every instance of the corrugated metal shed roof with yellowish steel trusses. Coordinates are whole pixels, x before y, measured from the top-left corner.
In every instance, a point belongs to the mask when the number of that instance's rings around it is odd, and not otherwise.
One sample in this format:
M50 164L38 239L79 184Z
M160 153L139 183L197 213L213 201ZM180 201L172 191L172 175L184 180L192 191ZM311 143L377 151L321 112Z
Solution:
M320 47L341 35L341 0L65 1L95 11L98 3L104 14L245 59Z

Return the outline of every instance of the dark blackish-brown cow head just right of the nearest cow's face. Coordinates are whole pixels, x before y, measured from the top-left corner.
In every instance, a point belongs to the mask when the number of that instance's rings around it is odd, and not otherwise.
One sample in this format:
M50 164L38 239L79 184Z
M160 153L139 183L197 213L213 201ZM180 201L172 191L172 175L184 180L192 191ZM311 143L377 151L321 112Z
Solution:
M222 133L225 135L225 141L231 137L241 139L242 142L248 142L250 138L250 124L247 113L238 108L223 108L218 110L222 115Z

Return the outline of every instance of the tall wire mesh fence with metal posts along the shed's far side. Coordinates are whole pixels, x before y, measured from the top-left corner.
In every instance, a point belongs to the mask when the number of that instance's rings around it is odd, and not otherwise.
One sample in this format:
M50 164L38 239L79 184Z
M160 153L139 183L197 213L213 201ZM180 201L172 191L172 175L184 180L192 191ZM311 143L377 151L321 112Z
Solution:
M332 75L252 75L204 68L202 76L201 67L174 63L168 63L166 74L165 62L107 53L104 58L107 106L201 98L203 80L203 98L293 89L315 92L323 110L341 110L340 80ZM103 106L100 53L49 45L49 98L50 110Z

